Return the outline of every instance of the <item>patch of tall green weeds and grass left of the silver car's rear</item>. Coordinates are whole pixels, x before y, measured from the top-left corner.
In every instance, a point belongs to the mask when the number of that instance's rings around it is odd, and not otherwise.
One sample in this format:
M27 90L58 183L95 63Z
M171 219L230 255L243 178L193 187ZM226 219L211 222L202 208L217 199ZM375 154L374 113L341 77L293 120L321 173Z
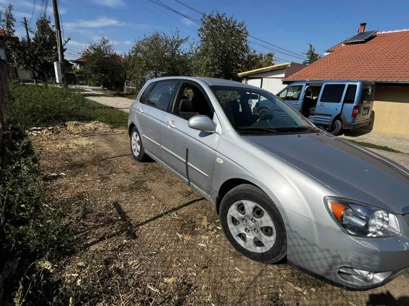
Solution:
M85 98L69 87L21 85L11 82L8 121L23 130L66 121L101 121L126 127L128 115Z

